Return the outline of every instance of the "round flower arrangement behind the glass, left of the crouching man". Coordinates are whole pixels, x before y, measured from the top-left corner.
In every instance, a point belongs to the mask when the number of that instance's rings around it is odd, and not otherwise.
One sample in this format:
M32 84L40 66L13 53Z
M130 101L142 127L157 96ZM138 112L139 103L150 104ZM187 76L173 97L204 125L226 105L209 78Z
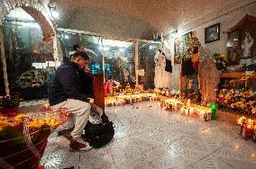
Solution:
M42 84L44 84L45 78L40 73L35 71L34 69L28 70L24 72L21 76L19 76L16 83L21 88L28 88L28 87L40 87Z

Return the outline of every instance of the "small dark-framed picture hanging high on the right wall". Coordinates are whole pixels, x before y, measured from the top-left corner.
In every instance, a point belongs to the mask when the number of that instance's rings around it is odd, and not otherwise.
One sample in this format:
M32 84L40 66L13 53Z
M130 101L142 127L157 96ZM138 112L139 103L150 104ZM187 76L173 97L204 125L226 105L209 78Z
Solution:
M220 23L205 28L205 42L220 40Z

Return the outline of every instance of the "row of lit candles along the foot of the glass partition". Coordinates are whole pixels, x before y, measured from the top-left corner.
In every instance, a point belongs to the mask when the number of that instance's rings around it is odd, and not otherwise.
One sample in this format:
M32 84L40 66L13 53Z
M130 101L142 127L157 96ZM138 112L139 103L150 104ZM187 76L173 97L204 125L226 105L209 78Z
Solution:
M160 101L160 95L156 93L120 94L115 97L105 97L107 107L120 106L136 102Z

